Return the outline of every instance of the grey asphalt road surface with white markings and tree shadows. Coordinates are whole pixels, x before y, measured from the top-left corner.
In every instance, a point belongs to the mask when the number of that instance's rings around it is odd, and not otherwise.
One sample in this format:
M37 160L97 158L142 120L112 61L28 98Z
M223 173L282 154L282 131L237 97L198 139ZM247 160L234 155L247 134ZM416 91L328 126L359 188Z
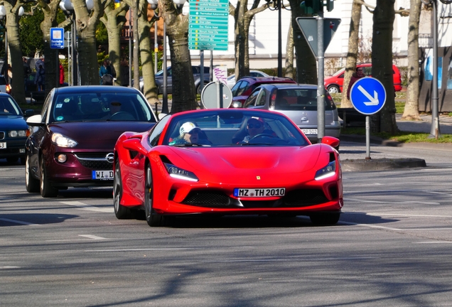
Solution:
M0 160L0 306L451 306L452 165L430 156L343 173L332 227L238 216L151 228L117 220L108 188L26 193L23 166Z

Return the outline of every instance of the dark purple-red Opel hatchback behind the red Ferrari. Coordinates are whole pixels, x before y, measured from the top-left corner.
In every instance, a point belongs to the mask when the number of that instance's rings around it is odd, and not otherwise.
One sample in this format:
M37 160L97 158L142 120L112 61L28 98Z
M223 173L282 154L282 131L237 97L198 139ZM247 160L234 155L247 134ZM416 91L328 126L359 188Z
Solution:
M54 88L41 114L29 117L26 189L56 197L68 187L112 186L114 144L124 131L157 122L146 98L131 87Z

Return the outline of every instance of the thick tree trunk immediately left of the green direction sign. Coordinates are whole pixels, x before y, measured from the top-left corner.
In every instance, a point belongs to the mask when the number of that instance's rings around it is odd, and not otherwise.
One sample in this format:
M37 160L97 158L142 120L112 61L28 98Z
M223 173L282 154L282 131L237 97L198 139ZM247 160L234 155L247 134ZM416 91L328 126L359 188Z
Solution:
M171 113L197 109L195 80L191 69L190 50L188 50L188 16L179 14L172 0L158 1L158 8L166 23L166 35L171 53L173 73Z

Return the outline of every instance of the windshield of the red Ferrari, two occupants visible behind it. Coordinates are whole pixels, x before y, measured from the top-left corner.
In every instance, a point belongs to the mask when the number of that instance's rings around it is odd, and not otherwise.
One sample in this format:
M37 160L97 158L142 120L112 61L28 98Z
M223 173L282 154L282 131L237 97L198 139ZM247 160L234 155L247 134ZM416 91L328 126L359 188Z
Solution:
M174 115L163 144L170 146L306 146L289 119L273 112L217 109Z

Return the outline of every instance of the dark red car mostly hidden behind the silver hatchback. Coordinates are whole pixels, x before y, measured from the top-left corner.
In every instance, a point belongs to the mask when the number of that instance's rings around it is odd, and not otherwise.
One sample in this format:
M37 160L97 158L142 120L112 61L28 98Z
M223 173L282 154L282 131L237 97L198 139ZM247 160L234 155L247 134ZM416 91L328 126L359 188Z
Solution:
M242 77L232 87L232 102L230 108L243 107L245 100L251 95L251 92L262 84L271 83L295 83L294 79L289 77Z

